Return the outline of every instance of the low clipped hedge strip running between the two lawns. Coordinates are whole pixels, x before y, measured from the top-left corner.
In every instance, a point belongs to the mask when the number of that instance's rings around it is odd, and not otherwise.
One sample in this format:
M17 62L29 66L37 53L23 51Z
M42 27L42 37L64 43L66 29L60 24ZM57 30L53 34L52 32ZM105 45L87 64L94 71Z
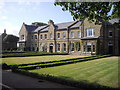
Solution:
M23 65L16 65L16 66L18 66L19 69L32 70L32 69L36 69L36 68L46 68L46 67L53 67L53 66L60 66L60 65L65 65L65 64L71 64L71 63L89 61L89 60L94 60L94 59L108 57L108 56L109 55L90 56L90 57L85 57L85 58L74 58L74 59L66 59L66 60L58 60L58 61L33 63L33 64L23 64ZM11 68L12 68L12 66L13 65L11 65Z

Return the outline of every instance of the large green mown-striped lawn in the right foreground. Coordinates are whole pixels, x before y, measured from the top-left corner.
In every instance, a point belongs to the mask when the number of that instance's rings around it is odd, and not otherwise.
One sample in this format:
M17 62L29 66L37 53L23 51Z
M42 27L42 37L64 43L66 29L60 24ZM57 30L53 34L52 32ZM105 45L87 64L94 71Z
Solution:
M109 87L118 86L118 57L108 57L75 64L30 70L30 72L87 81Z

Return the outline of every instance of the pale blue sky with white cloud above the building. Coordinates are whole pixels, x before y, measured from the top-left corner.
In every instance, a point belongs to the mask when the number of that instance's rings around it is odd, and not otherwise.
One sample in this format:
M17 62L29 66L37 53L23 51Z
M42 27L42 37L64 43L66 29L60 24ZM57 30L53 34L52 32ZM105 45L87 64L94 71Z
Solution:
M48 23L50 19L54 23L73 21L68 11L54 5L54 0L11 1L0 0L0 33L6 29L7 34L18 36L23 22L30 25L32 22Z

